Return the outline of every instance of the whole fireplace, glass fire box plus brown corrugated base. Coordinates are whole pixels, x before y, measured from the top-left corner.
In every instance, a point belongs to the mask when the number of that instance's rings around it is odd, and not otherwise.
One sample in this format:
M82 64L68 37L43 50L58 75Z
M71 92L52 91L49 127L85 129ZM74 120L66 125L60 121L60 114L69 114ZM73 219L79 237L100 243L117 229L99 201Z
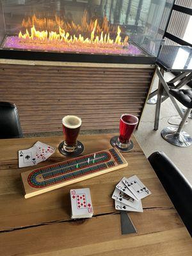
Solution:
M1 100L24 133L140 118L173 0L0 0Z

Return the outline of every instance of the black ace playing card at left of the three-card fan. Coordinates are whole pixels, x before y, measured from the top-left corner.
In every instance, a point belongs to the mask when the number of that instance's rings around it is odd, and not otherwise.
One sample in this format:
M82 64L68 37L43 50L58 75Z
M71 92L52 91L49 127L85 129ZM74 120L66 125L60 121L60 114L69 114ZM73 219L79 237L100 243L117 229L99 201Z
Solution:
M33 166L35 164L37 164L35 147L19 150L19 168Z

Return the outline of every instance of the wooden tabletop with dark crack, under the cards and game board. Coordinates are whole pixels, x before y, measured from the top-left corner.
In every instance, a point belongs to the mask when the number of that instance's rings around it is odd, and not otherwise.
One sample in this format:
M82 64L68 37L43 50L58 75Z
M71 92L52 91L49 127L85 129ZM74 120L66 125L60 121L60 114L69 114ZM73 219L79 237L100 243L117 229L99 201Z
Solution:
M114 134L79 136L84 155L110 148ZM61 136L0 140L0 255L192 255L186 227L134 139L132 152L123 153L128 166L33 198L25 199L18 168L18 150L41 141L58 148ZM56 152L38 166L67 159ZM137 234L122 236L120 214L111 198L122 177L138 175L152 195L142 200L143 213L129 212ZM90 188L94 215L70 220L72 188Z

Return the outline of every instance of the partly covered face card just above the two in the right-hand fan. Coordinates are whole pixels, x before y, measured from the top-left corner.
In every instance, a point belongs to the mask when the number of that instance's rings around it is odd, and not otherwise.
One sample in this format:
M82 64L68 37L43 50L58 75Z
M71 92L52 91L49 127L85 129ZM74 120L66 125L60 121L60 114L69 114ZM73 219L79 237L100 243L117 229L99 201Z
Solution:
M131 196L126 195L124 192L118 190L117 188L115 188L112 198L125 205L129 205L134 209L138 209L139 207L139 201L134 200L131 198Z

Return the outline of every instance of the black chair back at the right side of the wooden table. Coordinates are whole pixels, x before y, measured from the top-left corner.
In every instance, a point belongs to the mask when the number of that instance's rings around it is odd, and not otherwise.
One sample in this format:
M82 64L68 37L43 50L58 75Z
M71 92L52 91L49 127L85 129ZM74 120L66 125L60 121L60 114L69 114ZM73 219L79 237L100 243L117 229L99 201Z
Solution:
M172 200L192 237L192 186L180 170L163 152L154 152L148 157L157 177Z

